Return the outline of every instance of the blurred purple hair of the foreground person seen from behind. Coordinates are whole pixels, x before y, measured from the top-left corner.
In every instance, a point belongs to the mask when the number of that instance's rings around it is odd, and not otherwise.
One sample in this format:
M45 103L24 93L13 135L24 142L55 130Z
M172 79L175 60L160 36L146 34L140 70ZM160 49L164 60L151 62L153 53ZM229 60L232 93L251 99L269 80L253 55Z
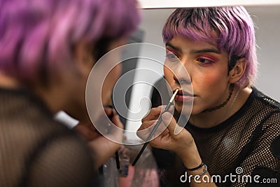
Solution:
M1 0L0 71L43 81L73 62L79 41L127 36L140 19L134 0Z

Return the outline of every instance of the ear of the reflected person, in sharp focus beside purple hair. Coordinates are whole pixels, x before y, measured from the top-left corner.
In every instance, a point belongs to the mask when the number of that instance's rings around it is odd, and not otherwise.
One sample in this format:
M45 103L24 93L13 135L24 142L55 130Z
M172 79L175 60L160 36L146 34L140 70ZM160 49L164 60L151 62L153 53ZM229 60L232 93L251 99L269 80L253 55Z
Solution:
M232 70L230 70L230 74L229 74L230 83L237 83L237 81L239 81L239 79L243 76L245 72L246 64L247 62L245 58L241 58L237 60L235 67L233 67Z

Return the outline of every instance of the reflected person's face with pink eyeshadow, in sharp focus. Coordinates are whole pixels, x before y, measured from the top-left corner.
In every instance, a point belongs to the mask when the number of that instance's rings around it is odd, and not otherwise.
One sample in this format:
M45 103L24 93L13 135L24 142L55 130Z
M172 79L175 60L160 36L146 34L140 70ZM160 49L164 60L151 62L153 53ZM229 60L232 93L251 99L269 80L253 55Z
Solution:
M200 41L191 41L184 36L175 36L167 42L165 78L172 90L180 89L175 97L176 110L182 112L183 101L193 98L192 115L196 115L223 103L228 97L228 54L216 46ZM177 60L176 60L177 59ZM179 61L179 60L181 61ZM179 67L183 64L188 75ZM180 85L181 83L181 85ZM193 96L188 95L184 85L193 85Z

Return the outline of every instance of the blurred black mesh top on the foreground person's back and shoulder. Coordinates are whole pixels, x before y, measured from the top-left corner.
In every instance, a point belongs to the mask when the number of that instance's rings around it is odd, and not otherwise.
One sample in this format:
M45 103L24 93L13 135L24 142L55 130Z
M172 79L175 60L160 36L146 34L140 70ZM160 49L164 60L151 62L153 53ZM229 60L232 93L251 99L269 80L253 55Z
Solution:
M92 186L85 142L25 90L0 88L0 186Z

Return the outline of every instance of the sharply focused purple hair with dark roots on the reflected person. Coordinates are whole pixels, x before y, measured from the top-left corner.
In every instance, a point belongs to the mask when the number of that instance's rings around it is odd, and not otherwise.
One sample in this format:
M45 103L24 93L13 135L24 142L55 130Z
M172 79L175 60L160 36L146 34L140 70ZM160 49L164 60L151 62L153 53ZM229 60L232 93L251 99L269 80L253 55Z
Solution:
M255 30L246 9L237 7L178 8L169 16L162 30L165 43L176 35L204 41L224 49L229 56L229 70L237 59L246 59L241 86L252 85L257 72Z

